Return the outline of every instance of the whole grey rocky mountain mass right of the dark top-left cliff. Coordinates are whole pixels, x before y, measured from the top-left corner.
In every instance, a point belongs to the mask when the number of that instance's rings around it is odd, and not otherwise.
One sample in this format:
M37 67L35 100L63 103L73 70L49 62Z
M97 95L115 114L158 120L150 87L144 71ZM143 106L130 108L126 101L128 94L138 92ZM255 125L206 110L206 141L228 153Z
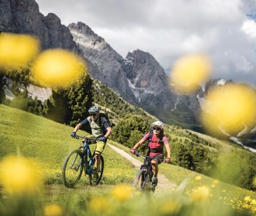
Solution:
M173 122L171 116L178 113L181 120L177 118L176 122L181 125L190 123L191 128L197 127L193 124L198 123L197 117L200 112L198 93L177 94L169 87L166 73L151 54L137 50L129 52L126 59L122 59L85 23L72 23L69 30L84 56L100 69L100 73L92 73L93 77L164 122ZM162 111L169 114L163 116Z

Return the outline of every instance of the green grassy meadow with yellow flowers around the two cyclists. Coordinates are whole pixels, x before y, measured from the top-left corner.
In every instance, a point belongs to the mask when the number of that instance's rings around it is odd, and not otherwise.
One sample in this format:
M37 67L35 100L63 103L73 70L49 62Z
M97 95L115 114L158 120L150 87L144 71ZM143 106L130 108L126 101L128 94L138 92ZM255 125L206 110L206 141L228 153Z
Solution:
M256 193L169 164L161 164L160 173L177 189L138 193L130 187L137 170L108 146L101 185L91 187L82 176L67 189L61 167L79 147L70 138L73 128L0 105L0 130L0 215L256 214Z

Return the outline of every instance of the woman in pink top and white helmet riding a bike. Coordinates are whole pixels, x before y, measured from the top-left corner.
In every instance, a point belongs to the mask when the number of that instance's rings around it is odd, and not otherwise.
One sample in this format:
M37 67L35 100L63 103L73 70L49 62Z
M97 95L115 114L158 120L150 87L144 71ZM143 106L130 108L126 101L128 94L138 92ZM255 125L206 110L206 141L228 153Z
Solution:
M163 133L163 122L153 122L152 130L153 131L143 136L143 138L140 139L140 141L136 143L132 149L130 149L130 153L135 154L135 149L137 149L137 147L140 147L145 141L148 141L148 156L155 159L164 159L163 146L165 146L167 151L167 157L164 160L164 163L169 163L171 158L171 149L168 143L168 139L166 136L164 136ZM154 173L152 184L153 186L156 186L158 183L158 164L161 164L161 162L158 162L158 160L151 160L151 165Z

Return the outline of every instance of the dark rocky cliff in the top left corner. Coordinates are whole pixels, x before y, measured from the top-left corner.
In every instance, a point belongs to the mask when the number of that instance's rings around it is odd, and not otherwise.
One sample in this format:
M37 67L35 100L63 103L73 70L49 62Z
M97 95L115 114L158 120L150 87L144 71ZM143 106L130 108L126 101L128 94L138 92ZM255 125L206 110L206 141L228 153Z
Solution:
M0 0L0 31L37 36L41 48L63 48L79 52L69 29L55 14L46 17L32 0Z

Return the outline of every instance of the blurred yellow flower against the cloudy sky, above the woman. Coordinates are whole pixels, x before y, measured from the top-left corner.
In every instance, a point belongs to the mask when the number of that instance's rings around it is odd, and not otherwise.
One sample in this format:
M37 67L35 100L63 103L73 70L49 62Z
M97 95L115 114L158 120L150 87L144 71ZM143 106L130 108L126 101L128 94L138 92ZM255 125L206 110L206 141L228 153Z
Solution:
M171 70L169 82L179 93L191 93L200 89L211 73L211 62L205 54L183 56Z

